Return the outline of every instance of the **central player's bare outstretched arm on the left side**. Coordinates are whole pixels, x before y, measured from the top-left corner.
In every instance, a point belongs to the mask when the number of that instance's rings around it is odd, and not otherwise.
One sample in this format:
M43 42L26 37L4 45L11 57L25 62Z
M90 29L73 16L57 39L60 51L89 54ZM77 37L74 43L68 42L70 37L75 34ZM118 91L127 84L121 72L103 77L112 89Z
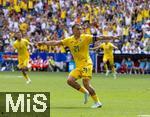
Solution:
M41 42L38 42L37 45L58 46L58 45L63 45L63 44L62 44L62 41L41 41Z

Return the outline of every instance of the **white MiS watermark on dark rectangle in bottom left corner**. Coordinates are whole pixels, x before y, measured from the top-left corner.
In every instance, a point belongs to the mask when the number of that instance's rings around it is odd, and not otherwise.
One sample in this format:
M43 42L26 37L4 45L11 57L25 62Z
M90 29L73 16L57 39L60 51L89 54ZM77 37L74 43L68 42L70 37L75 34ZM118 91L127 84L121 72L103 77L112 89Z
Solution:
M0 117L50 117L50 93L0 92Z

